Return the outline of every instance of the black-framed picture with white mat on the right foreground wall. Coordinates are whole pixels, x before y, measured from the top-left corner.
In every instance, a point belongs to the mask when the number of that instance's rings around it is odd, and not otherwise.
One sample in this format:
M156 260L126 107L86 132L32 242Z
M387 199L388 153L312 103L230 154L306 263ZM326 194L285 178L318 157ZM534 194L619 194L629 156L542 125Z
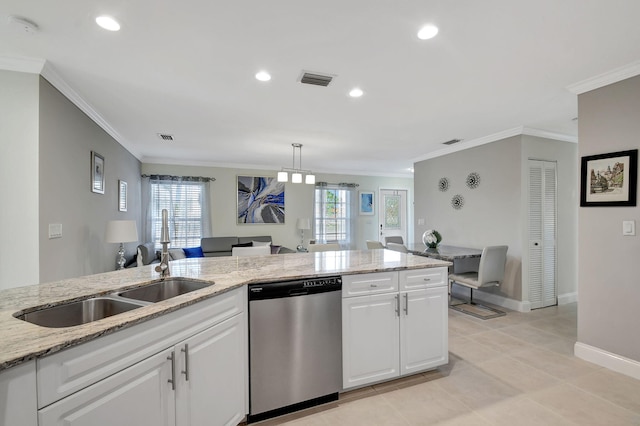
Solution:
M635 206L637 183L637 149L582 157L580 206Z

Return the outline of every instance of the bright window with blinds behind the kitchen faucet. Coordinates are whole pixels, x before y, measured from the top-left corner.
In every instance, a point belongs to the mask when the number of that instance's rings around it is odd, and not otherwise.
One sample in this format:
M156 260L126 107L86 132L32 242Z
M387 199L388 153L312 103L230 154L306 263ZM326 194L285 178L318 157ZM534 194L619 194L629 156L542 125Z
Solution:
M145 232L160 249L162 210L169 212L171 247L199 247L200 239L210 235L209 184L199 178L151 176L149 208Z

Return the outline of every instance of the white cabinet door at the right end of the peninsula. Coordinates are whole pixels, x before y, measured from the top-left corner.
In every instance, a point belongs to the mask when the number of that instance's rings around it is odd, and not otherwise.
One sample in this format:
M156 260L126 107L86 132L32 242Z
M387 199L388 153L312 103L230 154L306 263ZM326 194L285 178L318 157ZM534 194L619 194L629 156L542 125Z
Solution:
M400 293L400 375L449 362L447 287Z

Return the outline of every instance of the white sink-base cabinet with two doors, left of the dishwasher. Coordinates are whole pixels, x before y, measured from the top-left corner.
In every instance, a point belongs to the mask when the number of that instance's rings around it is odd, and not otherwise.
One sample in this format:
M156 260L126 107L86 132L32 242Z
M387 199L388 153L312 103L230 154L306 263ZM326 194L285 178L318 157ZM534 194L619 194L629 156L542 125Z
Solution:
M43 358L38 394L55 401L39 401L39 426L237 425L245 306L243 287Z

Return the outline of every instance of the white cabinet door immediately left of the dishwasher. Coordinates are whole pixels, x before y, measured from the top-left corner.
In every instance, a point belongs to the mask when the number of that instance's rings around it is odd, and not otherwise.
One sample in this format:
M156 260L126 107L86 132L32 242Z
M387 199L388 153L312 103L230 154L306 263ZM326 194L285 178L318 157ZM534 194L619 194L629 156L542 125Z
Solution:
M244 418L245 324L236 315L175 347L178 426L235 426Z

